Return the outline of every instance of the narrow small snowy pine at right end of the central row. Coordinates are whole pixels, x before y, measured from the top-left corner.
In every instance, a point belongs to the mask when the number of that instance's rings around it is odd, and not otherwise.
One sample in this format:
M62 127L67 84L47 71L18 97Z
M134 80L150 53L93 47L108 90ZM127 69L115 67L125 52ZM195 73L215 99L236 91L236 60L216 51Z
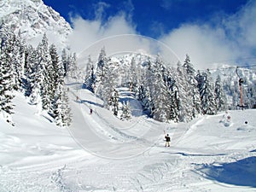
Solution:
M215 81L215 101L217 104L218 111L224 111L227 109L227 97L224 93L223 84L221 82L220 76L218 75Z

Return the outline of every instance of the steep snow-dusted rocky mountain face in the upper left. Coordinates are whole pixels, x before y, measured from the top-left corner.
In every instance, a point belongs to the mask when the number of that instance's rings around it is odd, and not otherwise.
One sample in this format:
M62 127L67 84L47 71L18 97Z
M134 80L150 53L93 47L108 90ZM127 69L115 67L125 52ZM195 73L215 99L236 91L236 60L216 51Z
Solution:
M10 27L32 45L37 45L44 32L49 43L59 49L67 47L71 26L42 0L1 0L0 26Z

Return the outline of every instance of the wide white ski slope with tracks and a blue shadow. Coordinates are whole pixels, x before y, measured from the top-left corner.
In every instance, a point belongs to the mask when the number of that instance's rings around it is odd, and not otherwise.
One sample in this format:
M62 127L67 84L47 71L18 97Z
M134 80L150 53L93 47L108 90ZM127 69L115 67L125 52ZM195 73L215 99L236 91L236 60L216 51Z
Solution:
M19 93L15 127L0 119L1 192L256 190L256 110L230 111L228 127L224 113L166 124L139 115L139 104L123 91L137 115L122 121L81 84L67 87L68 129Z

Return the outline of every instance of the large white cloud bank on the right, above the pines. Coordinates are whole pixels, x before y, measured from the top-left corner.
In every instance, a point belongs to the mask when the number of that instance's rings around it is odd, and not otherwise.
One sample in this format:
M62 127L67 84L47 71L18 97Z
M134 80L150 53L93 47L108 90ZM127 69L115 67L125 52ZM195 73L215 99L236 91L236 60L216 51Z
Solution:
M239 65L256 50L256 2L247 3L235 15L218 15L204 24L183 24L162 36L161 41L183 61L189 54L197 68L223 61ZM213 22L213 23L212 23ZM254 51L254 52L253 52ZM244 62L244 63L243 63Z

